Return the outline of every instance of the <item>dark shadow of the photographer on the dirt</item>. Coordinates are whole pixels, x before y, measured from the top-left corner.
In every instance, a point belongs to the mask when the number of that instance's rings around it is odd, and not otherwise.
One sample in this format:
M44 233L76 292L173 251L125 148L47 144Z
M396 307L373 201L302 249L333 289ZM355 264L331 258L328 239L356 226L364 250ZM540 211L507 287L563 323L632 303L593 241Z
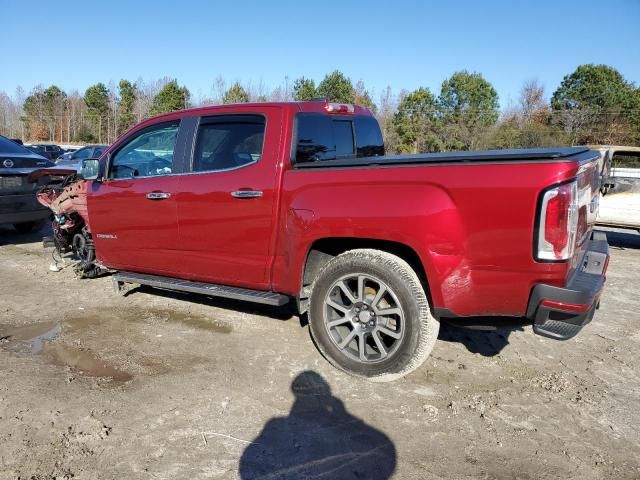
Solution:
M269 420L243 452L242 480L391 477L396 449L389 437L351 415L322 376L302 372L291 390L289 415Z

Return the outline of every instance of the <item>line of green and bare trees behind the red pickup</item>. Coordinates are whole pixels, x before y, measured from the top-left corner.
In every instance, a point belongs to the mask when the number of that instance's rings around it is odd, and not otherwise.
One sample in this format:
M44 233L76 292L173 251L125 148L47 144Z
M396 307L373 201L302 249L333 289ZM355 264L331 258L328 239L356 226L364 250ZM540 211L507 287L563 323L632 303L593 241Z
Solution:
M459 71L440 91L420 87L377 101L362 80L336 70L318 83L288 78L268 90L218 77L207 98L193 99L176 79L97 83L80 94L38 85L13 96L0 91L0 133L24 141L111 143L142 119L192 106L311 100L355 103L380 122L390 153L577 144L640 144L640 88L606 65L581 65L547 97L537 80L525 82L516 104L501 112L495 88L480 73Z

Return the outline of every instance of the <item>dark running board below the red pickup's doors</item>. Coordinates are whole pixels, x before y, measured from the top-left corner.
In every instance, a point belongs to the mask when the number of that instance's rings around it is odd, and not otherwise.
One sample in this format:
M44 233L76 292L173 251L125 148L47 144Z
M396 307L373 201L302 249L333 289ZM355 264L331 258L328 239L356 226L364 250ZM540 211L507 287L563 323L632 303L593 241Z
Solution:
M180 292L200 293L212 297L232 298L246 302L262 303L276 307L289 303L289 297L274 292L263 292L260 290L250 290L248 288L229 287L227 285L216 285L214 283L193 282L180 278L161 277L159 275L147 275L144 273L118 272L112 277L113 288L116 292L121 292L125 283L138 285L148 285L150 287L163 288L166 290L178 290Z

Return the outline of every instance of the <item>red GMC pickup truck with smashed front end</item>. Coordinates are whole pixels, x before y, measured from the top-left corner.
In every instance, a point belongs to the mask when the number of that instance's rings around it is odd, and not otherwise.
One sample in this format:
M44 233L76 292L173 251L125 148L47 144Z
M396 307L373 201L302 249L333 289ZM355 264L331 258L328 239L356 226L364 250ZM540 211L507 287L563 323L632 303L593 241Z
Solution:
M440 319L526 317L556 339L591 320L609 260L597 162L583 147L385 156L358 106L205 107L123 135L67 187L54 230L91 259L95 244L117 289L296 301L332 364L390 380Z

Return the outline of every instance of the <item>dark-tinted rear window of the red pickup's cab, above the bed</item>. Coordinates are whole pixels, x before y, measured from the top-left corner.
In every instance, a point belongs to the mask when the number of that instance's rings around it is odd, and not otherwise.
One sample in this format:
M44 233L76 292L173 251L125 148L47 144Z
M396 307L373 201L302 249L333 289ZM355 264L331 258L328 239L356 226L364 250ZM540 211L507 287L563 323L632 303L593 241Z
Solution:
M299 113L295 163L384 155L375 118L366 115Z

